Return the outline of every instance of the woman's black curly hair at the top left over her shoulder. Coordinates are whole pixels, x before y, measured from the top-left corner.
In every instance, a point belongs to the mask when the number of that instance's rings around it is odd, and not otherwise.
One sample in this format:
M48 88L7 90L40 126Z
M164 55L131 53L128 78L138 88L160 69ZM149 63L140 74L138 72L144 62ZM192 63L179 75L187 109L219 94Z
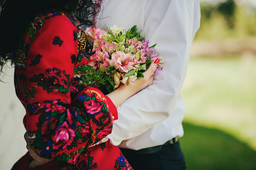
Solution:
M0 0L0 74L9 60L14 63L13 52L29 22L49 10L75 16L80 26L91 26L100 4L96 0Z

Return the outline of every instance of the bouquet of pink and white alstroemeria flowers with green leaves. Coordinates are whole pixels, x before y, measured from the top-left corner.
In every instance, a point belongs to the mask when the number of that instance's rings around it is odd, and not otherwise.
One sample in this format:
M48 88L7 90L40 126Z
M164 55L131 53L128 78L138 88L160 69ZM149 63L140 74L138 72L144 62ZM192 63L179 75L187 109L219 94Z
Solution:
M92 66L92 70L82 81L85 84L94 82L110 93L121 83L133 84L137 78L144 77L142 72L157 58L160 62L154 74L160 72L163 60L158 57L156 44L149 46L149 41L144 41L140 35L142 31L137 31L137 26L128 30L116 25L110 28L104 25L101 29L87 28L88 65Z

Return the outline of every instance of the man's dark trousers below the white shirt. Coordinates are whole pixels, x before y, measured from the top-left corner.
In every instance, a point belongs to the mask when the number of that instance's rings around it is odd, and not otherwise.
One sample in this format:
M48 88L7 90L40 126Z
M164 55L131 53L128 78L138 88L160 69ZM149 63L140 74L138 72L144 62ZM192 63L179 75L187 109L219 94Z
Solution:
M131 149L120 148L134 170L186 170L184 154L179 141L162 145L157 153L138 153Z

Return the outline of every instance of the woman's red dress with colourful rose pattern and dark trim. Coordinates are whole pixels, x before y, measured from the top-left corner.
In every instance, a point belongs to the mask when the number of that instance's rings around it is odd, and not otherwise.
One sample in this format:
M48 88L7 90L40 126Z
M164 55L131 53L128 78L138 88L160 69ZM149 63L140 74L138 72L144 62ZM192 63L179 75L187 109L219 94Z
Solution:
M117 111L99 89L78 79L90 67L85 46L84 31L57 11L39 14L20 38L14 84L26 109L24 126L30 147L52 160L37 169L131 170L118 146L101 142ZM12 169L29 169L32 160L27 153Z

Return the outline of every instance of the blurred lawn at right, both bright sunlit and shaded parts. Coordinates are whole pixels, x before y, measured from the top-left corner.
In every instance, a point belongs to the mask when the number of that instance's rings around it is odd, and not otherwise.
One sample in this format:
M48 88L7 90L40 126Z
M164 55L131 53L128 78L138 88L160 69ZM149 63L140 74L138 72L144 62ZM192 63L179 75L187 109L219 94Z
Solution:
M182 93L188 170L256 169L256 58L192 58Z

